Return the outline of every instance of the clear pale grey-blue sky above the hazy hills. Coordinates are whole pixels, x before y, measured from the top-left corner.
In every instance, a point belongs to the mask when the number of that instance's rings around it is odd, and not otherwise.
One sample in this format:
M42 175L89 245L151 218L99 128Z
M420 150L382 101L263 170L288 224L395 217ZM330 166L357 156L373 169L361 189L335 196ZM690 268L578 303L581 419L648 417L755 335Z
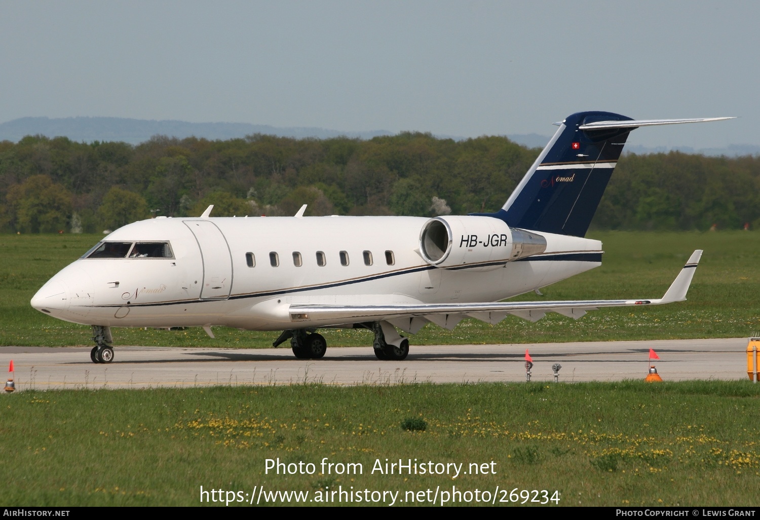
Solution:
M0 0L0 122L114 116L551 135L581 110L629 143L760 144L760 2Z

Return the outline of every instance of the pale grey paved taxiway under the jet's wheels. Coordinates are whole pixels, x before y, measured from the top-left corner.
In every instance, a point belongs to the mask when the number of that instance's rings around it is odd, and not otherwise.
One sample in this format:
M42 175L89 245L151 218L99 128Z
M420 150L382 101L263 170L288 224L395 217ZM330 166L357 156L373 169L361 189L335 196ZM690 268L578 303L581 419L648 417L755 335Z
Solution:
M0 347L0 366L14 361L16 388L154 388L207 385L397 384L402 382L524 381L530 349L533 381L643 379L649 349L667 381L746 379L746 338L670 341L591 341L411 347L401 362L380 361L371 347L328 348L321 360L298 360L290 348L240 350L116 347L108 365L90 362L90 348Z

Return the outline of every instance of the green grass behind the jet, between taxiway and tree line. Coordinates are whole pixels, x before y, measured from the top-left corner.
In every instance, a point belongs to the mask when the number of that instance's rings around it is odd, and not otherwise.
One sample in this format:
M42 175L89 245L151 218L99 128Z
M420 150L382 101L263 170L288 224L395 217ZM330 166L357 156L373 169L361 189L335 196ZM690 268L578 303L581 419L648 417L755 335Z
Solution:
M90 329L52 319L32 309L33 294L59 269L87 251L98 235L0 235L0 344L89 345ZM731 338L760 331L760 233L594 232L603 241L600 268L579 274L521 300L660 297L694 249L705 249L689 300L648 309L600 309L575 321L549 313L536 323L508 316L499 325L467 319L454 329L427 325L412 344L489 344L542 341L604 341L670 338ZM123 329L116 344L178 347L269 347L271 332L215 328L185 331ZM366 331L326 330L331 347L369 344Z

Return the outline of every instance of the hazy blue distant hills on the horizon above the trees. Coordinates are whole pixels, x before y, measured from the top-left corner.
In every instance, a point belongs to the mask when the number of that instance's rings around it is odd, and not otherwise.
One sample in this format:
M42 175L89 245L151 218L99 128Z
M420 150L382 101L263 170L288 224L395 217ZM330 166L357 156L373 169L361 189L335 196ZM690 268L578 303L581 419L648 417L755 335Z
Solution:
M124 141L129 144L140 144L154 135L169 135L179 139L195 136L211 140L226 140L242 138L252 134L277 135L291 138L328 139L344 135L350 138L371 139L378 135L394 135L388 130L371 130L368 132L342 132L329 128L308 126L277 127L271 125L252 125L250 123L194 123L175 121L171 119L156 121L154 119L128 119L122 117L22 117L0 123L0 141L17 142L25 135L46 135L49 138L65 136L71 141ZM437 138L464 141L467 138L457 135L436 135ZM511 134L510 141L529 148L543 148L551 136L539 134ZM644 147L628 145L627 154L656 154L659 152L682 151L685 154L704 154L708 156L725 155L737 157L740 155L760 154L760 146L754 144L730 144L725 148L704 148L695 150L692 147Z

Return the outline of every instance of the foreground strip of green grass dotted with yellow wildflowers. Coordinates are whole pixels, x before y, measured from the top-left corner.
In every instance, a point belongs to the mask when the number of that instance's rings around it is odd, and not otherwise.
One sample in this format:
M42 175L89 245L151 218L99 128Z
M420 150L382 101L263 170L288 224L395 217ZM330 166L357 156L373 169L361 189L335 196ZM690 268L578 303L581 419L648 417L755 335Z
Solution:
M0 503L195 506L201 486L402 499L499 486L556 490L560 506L758 506L758 398L747 381L17 392L0 399ZM319 474L325 457L363 474ZM266 474L268 458L315 474ZM386 458L489 473L372 474Z

